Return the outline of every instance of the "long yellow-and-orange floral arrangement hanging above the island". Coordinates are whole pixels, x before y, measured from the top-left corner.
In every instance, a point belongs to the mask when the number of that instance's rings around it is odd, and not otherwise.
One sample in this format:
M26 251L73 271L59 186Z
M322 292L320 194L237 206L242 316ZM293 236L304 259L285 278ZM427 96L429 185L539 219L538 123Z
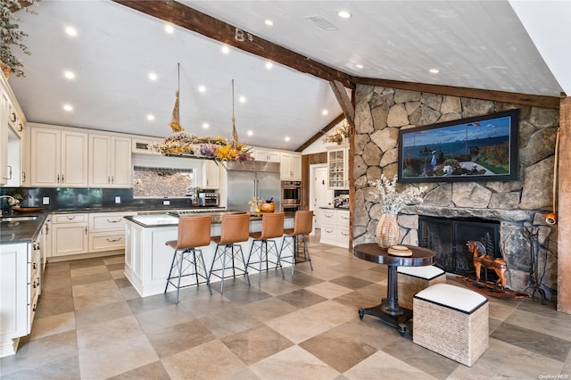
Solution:
M151 150L162 155L187 155L216 161L252 161L250 148L235 144L222 136L198 137L188 132L178 132L151 145Z

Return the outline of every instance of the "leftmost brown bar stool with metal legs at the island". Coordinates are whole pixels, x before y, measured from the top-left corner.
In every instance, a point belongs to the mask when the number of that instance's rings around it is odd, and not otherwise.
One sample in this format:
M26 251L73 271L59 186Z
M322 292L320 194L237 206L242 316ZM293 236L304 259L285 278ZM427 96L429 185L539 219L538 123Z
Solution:
M167 278L167 285L164 288L164 293L167 293L169 284L177 289L177 296L175 304L178 303L178 293L181 287L200 285L198 277L203 277L206 280L209 292L212 294L211 284L204 265L203 251L196 247L202 247L211 243L211 217L206 215L203 217L185 217L178 219L178 238L171 240L166 245L169 245L175 250L172 256L172 263L170 264L169 277ZM199 273L198 265L202 268L203 273ZM172 274L172 269L177 268L178 274ZM196 277L195 284L180 285L181 277ZM177 279L176 284L173 282ZM204 283L203 283L204 284Z

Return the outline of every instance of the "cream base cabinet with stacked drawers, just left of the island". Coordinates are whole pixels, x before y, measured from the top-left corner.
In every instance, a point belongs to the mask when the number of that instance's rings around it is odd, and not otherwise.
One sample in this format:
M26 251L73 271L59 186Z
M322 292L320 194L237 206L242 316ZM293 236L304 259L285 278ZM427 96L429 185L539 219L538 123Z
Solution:
M89 252L125 249L125 219L137 212L96 212L89 214Z

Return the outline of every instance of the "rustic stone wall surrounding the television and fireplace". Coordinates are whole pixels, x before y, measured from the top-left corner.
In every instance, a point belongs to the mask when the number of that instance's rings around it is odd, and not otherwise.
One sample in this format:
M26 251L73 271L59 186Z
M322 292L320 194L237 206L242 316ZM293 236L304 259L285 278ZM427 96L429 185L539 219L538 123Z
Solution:
M401 243L418 244L418 215L481 218L501 222L501 253L508 262L508 287L523 291L530 270L525 226L539 228L542 284L551 297L557 288L557 228L544 221L552 208L555 140L559 110L358 85L355 104L355 209L353 245L375 242L380 214L378 193L369 182L397 172L397 138L401 128L520 109L519 178L517 181L443 182L428 187L424 202L399 214ZM404 186L404 185L401 185ZM409 185L412 186L412 185Z

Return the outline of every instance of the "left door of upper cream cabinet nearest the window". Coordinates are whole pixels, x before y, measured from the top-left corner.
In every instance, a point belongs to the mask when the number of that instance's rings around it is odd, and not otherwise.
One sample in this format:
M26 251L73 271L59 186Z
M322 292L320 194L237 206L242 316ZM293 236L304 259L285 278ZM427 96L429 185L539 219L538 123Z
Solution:
M89 135L89 186L105 187L111 183L111 138Z

